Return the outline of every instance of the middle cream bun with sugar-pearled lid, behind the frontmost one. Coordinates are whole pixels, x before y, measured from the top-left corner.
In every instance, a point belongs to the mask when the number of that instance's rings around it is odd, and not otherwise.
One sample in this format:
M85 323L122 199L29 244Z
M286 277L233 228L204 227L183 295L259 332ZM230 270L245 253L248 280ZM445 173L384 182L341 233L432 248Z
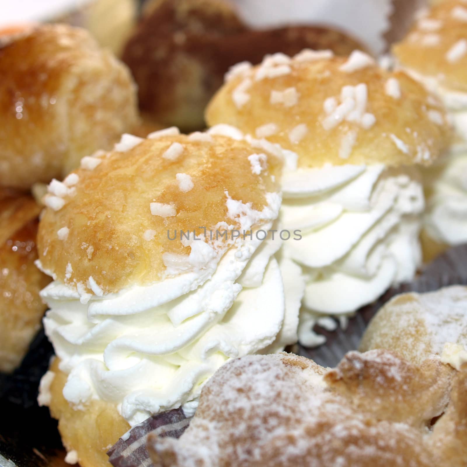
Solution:
M303 344L322 342L310 333L317 317L352 313L413 278L424 210L417 167L436 160L449 135L422 85L359 51L277 54L235 67L206 118L285 149L281 221L302 238L283 255L306 279Z

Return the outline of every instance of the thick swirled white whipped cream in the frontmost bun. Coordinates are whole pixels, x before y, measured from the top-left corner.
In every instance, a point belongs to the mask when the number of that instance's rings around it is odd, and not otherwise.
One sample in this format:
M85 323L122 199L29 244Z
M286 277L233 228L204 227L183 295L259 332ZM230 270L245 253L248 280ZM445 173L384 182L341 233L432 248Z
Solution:
M229 201L230 217L241 226L262 219L266 231L281 203L269 194L269 205L256 212ZM239 237L219 255L208 242L191 239L190 246L186 264L167 258L170 276L149 286L85 303L57 281L42 291L50 306L45 331L69 374L63 393L73 406L93 398L114 403L132 426L181 405L190 410L228 359L296 341L300 297L284 297L274 257L280 241ZM284 276L293 267L283 260Z

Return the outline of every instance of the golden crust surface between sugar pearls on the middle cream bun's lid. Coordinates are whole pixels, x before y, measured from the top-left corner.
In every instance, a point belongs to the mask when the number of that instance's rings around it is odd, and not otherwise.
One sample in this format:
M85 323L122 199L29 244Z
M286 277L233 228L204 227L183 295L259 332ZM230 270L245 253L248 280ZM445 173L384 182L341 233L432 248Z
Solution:
M283 76L262 80L251 77L251 72L237 76L214 96L206 111L206 121L210 126L228 123L253 135L256 128L272 123L278 131L268 140L297 152L299 167L322 167L325 163L429 165L444 152L451 134L446 113L439 101L432 96L429 98L422 85L401 71L392 73L376 65L353 72L341 71L340 66L346 61L347 58L342 57L307 62L293 59L289 64L291 72ZM253 73L257 71L255 67ZM238 108L233 92L248 78L252 80L246 91L249 100ZM398 81L400 99L385 92L389 78ZM325 130L325 100L334 97L340 103L343 86L361 83L368 87L366 112L375 116L375 124L365 129L357 122L344 120ZM297 104L289 107L271 104L271 92L287 88L298 92ZM441 125L429 118L430 110L439 112ZM306 125L307 133L298 143L292 142L290 131L302 124ZM351 131L356 131L356 139L350 156L344 158L340 150Z

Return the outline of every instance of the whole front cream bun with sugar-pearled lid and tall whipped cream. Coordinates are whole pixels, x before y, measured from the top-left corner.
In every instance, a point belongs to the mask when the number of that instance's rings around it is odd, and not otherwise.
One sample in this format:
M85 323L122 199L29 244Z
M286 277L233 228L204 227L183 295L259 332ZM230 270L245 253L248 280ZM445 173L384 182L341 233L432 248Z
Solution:
M192 413L230 358L297 340L280 243L263 240L282 158L214 133L124 135L49 185L38 265L57 359L39 400L84 467L151 415Z

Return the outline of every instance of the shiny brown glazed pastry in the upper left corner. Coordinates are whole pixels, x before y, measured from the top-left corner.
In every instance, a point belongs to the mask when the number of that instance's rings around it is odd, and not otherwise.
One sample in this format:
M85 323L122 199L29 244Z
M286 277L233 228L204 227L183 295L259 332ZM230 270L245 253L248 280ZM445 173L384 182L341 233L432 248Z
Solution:
M0 46L0 186L61 179L138 120L126 66L83 29L42 25Z

